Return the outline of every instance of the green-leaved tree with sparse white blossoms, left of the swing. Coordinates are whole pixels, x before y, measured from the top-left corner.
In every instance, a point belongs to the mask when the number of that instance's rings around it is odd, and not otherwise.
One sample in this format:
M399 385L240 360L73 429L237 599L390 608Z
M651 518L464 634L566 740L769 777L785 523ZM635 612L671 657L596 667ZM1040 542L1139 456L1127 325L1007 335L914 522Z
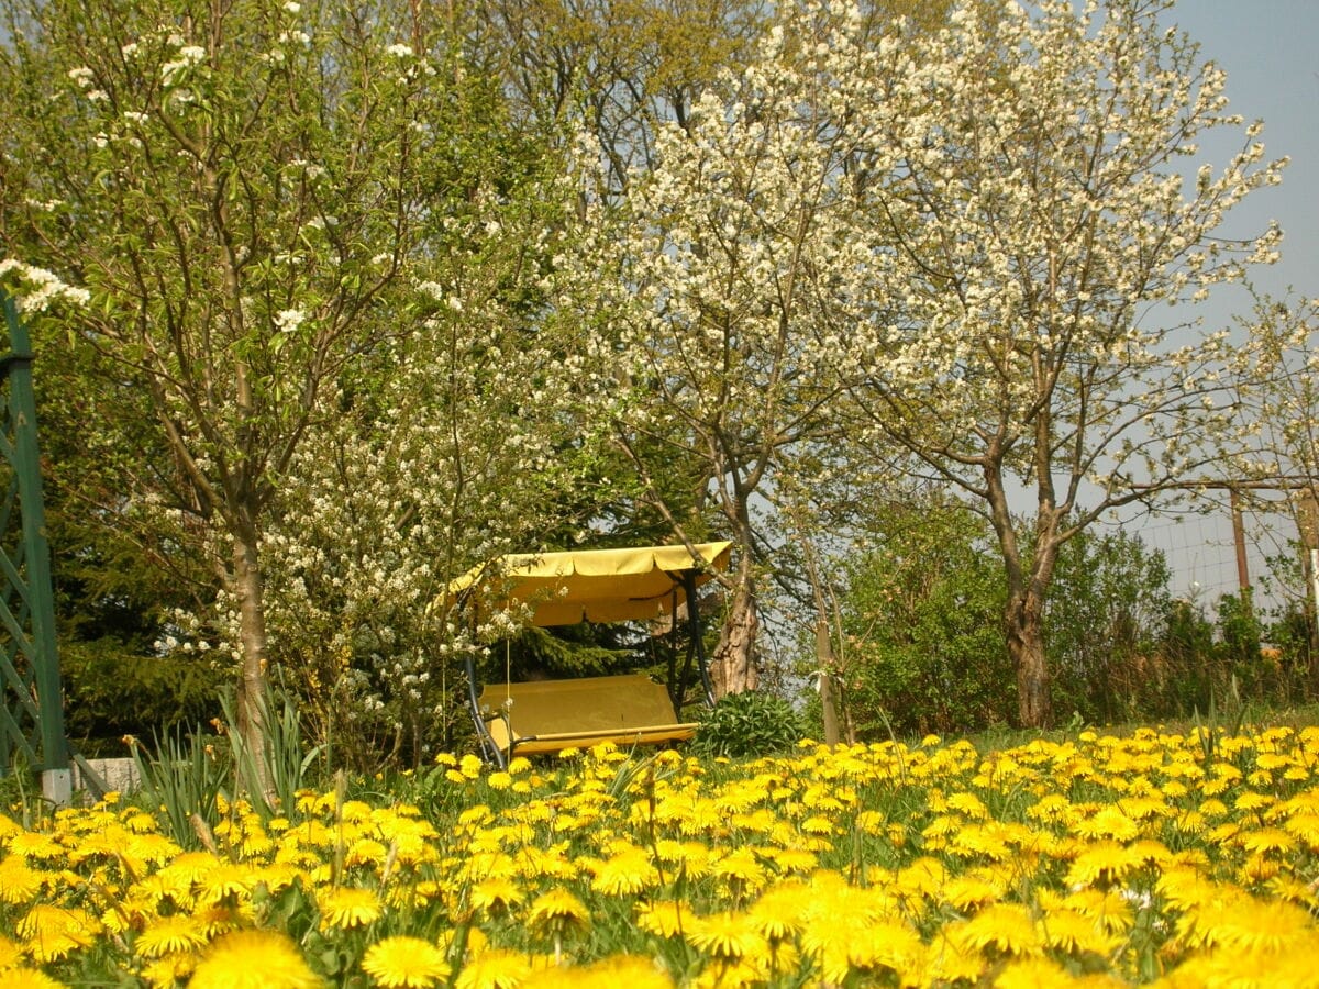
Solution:
M124 496L197 520L259 746L272 500L346 372L408 328L451 149L426 25L295 0L5 7L5 251L90 293L69 339L92 386L145 393L169 462Z

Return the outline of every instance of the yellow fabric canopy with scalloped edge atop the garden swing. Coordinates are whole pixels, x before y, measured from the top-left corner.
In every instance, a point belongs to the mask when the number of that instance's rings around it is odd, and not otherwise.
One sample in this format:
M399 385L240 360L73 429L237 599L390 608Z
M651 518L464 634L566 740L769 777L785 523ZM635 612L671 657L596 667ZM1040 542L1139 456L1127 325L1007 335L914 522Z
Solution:
M696 583L708 571L727 570L732 543L644 546L572 553L518 553L475 567L448 585L448 597L488 588L503 603L532 608L533 625L575 625L579 621L649 621L673 611L674 595L686 600L685 571Z

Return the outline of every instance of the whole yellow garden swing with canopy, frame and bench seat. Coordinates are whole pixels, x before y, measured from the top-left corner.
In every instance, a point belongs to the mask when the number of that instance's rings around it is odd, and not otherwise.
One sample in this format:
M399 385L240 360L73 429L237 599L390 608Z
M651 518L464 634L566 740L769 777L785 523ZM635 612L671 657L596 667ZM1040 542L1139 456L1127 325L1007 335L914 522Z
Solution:
M476 567L448 585L447 597L472 609L524 604L541 628L580 621L653 622L677 618L686 604L689 654L700 674L706 704L714 703L700 641L696 588L727 570L728 542L642 546L621 550L513 554ZM694 553L692 553L694 551ZM483 604L485 601L487 604ZM683 741L698 723L679 721L669 688L642 674L567 680L485 684L467 657L468 704L487 757L506 766L514 756L551 753L599 742L619 745ZM681 694L681 684L678 686Z

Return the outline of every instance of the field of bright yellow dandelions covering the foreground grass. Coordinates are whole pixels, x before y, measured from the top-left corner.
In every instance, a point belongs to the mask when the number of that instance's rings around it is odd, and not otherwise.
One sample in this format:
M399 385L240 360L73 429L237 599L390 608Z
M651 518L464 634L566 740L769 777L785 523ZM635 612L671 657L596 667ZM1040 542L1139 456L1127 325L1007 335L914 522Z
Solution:
M1087 731L443 756L194 835L12 807L0 984L1319 985L1316 766L1319 728Z

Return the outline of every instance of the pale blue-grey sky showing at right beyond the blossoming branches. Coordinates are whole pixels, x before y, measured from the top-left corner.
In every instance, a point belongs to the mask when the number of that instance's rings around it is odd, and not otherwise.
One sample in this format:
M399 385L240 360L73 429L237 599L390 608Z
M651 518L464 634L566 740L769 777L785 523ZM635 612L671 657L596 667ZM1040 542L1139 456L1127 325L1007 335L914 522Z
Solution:
M1228 74L1231 109L1264 120L1270 158L1291 162L1281 186L1261 190L1237 207L1229 232L1264 229L1275 219L1285 232L1279 264L1260 269L1256 284L1273 295L1289 289L1319 297L1319 0L1179 0L1167 18L1200 44L1204 59ZM1204 160L1220 165L1233 150L1204 146ZM1204 307L1206 327L1231 324L1249 311L1240 291L1220 294ZM1140 525L1146 543L1162 549L1174 570L1173 591L1212 605L1235 591L1236 562L1227 513L1174 522L1154 517ZM1282 516L1248 518L1252 582L1266 571L1265 555L1285 551L1295 529Z

